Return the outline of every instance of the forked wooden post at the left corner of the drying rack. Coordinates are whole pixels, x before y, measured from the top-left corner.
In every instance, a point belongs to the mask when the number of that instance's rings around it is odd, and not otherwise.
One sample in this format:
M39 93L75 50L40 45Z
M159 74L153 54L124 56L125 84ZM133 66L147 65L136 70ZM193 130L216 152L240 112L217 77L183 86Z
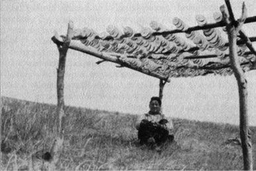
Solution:
M56 33L57 34L57 33ZM52 164L52 169L56 170L56 165L60 159L60 153L62 151L62 145L64 143L64 126L65 126L65 112L64 112L64 74L65 74L65 59L67 56L67 49L69 47L69 43L71 38L73 37L73 22L69 21L67 28L67 37L64 41L64 44L57 45L60 58L59 58L59 66L57 69L57 95L58 95L58 105L57 105L57 115L56 115L56 138L52 145L52 149L50 154L52 156L52 160L50 161Z

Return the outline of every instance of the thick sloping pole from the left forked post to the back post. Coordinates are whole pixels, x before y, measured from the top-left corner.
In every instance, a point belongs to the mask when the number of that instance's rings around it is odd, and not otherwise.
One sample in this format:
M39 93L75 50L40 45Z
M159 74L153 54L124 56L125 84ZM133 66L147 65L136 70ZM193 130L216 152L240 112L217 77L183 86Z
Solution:
M62 38L60 38L58 36L52 37L52 41L54 41L54 43L59 44L59 45L63 45L63 43L64 43ZM120 61L120 59L118 59L118 57L117 57L117 56L120 56L119 54L111 55L113 53L104 53L104 52L97 51L97 49L94 49L93 47L87 47L86 45L81 43L81 41L79 41L79 40L71 40L71 42L69 44L69 49L73 49L75 51L81 51L83 53L93 55L94 57L98 57L105 61L114 62L116 64L120 64L121 66L125 66L126 68L130 68L132 70L142 72L143 74L147 74L149 76L153 76L155 78L159 78L161 80L170 82L169 78L165 78L159 74L155 74L155 73L150 72L149 70L146 70L144 68L132 66L132 65L126 64L125 62Z

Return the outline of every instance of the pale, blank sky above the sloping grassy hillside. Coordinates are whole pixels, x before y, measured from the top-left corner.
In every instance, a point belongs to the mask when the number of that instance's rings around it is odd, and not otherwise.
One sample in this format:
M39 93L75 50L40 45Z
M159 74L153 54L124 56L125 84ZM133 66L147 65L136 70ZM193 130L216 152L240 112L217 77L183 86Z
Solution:
M243 1L231 1L235 18ZM57 103L58 49L54 30L66 34L75 28L105 32L108 25L130 26L139 32L152 20L175 29L181 18L196 26L196 14L214 22L224 0L172 1L1 1L1 96L40 103ZM256 15L255 0L245 0L247 16ZM255 36L256 23L245 24ZM253 43L255 47L255 43ZM96 57L69 50L65 69L65 105L122 113L148 112L149 99L157 96L159 80ZM248 82L249 124L256 126L256 70L245 74ZM232 76L171 78L163 90L163 113L173 118L239 124L237 82Z

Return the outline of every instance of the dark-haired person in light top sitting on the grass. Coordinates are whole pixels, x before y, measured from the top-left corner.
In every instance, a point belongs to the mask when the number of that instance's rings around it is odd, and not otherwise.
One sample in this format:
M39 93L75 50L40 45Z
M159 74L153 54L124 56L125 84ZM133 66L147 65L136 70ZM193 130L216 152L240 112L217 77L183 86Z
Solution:
M136 129L140 145L161 145L169 139L173 141L173 123L167 120L161 110L161 99L151 97L149 102L149 112L138 117Z

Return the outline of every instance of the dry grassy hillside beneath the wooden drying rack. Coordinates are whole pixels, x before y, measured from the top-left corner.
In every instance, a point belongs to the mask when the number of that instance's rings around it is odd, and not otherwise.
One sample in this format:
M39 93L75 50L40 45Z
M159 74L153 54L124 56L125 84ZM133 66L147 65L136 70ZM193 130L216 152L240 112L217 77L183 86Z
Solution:
M48 170L56 106L1 97L1 170ZM175 143L157 153L138 145L136 115L65 107L60 170L241 170L238 126L173 118ZM256 168L256 128L253 155Z

